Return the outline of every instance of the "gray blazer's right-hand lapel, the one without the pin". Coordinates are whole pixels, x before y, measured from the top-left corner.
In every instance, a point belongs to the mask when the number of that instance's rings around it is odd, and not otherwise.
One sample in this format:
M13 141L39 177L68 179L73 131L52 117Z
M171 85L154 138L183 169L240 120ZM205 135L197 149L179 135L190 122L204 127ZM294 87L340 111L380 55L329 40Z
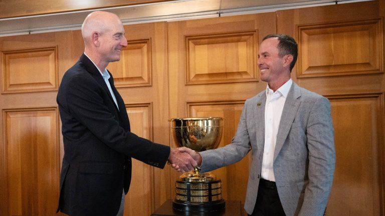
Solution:
M274 160L277 158L278 153L281 151L283 143L285 142L286 137L289 134L299 104L301 103L301 101L299 100L300 96L301 93L299 87L296 83L293 82L290 87L289 93L287 94L285 105L282 110L281 121L279 123L277 134L277 141L275 143Z

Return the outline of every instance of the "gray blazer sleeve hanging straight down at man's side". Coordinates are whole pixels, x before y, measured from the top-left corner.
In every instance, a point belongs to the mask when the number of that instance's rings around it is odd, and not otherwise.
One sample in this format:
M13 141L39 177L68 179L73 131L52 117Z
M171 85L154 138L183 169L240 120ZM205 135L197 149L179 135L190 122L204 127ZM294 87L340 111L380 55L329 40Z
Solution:
M330 102L319 97L310 112L306 127L309 151L309 183L298 215L323 215L335 168L334 129Z

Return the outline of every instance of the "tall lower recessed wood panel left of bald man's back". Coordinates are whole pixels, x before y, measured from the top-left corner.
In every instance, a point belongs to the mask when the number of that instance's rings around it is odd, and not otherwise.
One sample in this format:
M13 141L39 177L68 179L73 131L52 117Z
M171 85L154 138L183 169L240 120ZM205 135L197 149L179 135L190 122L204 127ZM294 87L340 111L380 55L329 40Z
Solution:
M51 215L60 176L57 108L4 110L7 215Z

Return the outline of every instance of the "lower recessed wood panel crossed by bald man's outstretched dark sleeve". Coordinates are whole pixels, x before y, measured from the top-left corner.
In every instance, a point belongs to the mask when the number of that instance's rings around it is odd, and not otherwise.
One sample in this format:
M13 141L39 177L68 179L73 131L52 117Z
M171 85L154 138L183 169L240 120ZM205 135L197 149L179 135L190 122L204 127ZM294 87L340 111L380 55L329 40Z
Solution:
M152 139L151 104L126 105L132 132L138 136ZM154 167L132 159L132 178L130 190L125 198L124 215L150 215L154 199Z

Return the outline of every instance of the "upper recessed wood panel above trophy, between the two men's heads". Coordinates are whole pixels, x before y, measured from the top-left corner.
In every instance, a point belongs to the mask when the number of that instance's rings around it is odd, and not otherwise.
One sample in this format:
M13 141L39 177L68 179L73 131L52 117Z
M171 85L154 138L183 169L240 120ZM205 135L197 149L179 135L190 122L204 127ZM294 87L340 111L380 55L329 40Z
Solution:
M187 35L186 83L256 81L257 32Z

